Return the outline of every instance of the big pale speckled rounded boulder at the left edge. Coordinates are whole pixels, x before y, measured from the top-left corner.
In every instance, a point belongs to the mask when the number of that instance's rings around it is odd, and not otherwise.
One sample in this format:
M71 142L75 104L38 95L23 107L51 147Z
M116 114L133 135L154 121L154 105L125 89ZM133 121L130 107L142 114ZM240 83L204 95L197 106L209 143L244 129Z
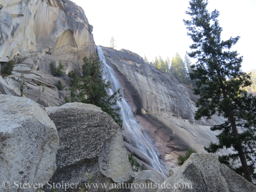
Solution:
M0 181L46 184L56 171L59 138L45 109L21 97L0 95ZM35 192L36 189L20 189Z

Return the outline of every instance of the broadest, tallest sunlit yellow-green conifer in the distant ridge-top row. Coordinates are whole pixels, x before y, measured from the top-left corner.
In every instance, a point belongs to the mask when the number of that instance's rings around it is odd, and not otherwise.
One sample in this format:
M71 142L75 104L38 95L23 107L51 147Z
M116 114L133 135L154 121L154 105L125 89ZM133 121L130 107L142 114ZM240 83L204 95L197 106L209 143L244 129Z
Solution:
M185 64L178 53L176 53L175 58L172 58L170 74L172 74L172 76L181 83L185 83L187 81Z

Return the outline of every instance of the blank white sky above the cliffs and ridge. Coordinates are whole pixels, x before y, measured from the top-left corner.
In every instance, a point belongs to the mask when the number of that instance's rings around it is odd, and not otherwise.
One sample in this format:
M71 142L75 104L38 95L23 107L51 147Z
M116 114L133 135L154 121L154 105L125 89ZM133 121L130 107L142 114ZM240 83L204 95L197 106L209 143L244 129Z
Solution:
M155 56L164 60L175 56L184 58L193 43L187 36L183 19L189 0L72 0L84 9L89 23L94 27L97 45L110 46L116 40L116 49L127 49L149 61ZM256 0L208 0L208 11L220 12L223 28L222 40L240 36L232 47L243 56L242 70L256 68ZM196 60L192 60L196 62Z

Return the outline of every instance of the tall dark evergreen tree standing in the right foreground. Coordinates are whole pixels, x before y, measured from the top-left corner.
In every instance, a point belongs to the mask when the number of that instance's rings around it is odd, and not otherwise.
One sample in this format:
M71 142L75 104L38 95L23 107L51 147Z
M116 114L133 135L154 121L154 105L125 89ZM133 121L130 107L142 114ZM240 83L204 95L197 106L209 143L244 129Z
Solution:
M239 37L221 40L222 28L217 17L219 12L208 13L207 0L190 0L189 11L192 20L184 20L188 36L194 44L194 51L188 56L197 58L192 65L191 78L196 80L194 93L200 98L196 103L195 118L211 118L218 114L225 118L223 124L215 125L212 131L220 130L218 143L211 143L208 152L215 153L222 148L232 148L234 153L220 156L220 162L240 160L243 176L252 181L256 162L256 98L244 89L250 86L250 75L242 72L242 57L230 48Z

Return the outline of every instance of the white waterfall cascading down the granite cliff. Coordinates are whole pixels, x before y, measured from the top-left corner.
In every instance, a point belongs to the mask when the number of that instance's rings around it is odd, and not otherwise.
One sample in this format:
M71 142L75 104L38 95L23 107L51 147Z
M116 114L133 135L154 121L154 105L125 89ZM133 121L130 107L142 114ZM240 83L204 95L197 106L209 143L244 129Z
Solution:
M103 79L109 80L111 82L112 88L108 90L109 94L113 94L118 88L121 88L120 83L118 81L118 78L116 77L116 74L114 73L114 70L108 66L105 60L105 56L102 53L102 49L100 46L97 46L98 56L100 58L100 61L103 62ZM122 89L121 89L122 92ZM126 129L126 132L130 135L130 137L133 139L133 145L138 150L140 150L142 153L144 153L145 156L147 156L148 160L150 160L149 164L162 174L166 175L167 170L164 168L164 166L161 165L158 155L156 153L156 148L150 141L150 138L144 132L140 130L138 123L134 119L134 115L132 113L132 107L124 100L124 95L122 92L122 101L118 101L117 105L121 108L120 114L121 118L123 120L123 128Z

